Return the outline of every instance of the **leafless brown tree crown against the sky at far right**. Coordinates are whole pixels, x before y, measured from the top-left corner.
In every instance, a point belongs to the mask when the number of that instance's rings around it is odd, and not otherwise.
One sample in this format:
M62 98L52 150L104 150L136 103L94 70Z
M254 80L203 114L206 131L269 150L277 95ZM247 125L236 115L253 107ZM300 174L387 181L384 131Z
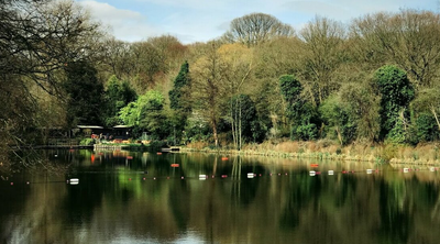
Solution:
M440 62L440 15L403 10L354 20L351 37L358 40L358 57L384 65L392 62L407 73L417 88L431 87ZM381 63L378 63L381 62Z

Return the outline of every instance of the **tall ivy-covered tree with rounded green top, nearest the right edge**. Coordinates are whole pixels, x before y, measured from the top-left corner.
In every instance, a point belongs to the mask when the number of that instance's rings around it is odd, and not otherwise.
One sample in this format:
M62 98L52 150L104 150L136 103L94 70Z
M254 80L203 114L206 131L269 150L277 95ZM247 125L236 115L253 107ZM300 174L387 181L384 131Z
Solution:
M374 82L377 90L382 95L381 99L381 138L385 138L388 133L395 127L399 120L399 113L408 111L408 106L415 97L415 90L409 82L407 75L404 70L388 65L376 70L374 74ZM404 113L404 118L408 114ZM399 136L403 134L395 129L392 141L400 141ZM388 136L389 137L389 136Z

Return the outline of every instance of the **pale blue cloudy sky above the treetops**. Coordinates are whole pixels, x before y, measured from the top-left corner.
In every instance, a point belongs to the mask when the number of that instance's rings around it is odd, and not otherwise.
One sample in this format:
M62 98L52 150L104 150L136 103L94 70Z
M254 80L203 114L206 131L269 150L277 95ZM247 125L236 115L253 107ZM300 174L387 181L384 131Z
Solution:
M295 30L316 15L342 23L378 11L400 9L438 11L440 0L76 0L118 40L144 41L160 35L182 43L220 37L229 23L250 13L266 13Z

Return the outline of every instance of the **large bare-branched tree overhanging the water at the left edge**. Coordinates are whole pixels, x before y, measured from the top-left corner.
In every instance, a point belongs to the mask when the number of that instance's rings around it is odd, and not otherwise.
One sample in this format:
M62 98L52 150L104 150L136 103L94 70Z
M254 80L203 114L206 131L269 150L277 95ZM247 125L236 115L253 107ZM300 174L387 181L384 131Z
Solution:
M99 24L74 1L0 0L0 144L35 140L26 131L37 126L31 89L61 98L66 65L92 58L100 36Z

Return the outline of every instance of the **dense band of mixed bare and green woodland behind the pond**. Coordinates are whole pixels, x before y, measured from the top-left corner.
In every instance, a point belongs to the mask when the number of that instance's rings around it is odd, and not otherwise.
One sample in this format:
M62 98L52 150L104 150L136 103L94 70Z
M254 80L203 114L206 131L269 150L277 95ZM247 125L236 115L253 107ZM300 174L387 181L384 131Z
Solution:
M42 129L240 149L289 138L417 145L440 137L440 15L405 9L301 30L250 13L207 43L122 42L72 0L0 0L0 151Z

